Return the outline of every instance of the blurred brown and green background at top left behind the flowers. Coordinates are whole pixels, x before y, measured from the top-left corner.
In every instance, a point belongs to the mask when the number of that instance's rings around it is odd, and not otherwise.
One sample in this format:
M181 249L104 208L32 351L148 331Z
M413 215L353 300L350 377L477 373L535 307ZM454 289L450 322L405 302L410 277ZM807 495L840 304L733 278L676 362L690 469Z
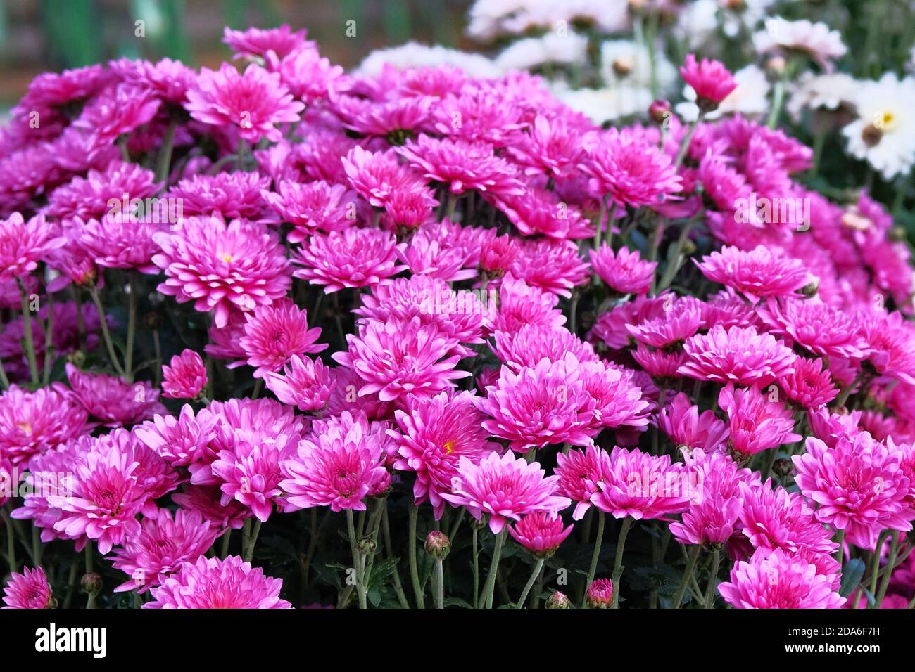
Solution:
M415 39L468 48L470 0L0 0L0 110L45 70L106 59L181 59L217 66L230 56L222 28L306 27L322 56L344 67L373 48ZM145 39L135 21L145 21ZM356 20L356 37L346 21Z

